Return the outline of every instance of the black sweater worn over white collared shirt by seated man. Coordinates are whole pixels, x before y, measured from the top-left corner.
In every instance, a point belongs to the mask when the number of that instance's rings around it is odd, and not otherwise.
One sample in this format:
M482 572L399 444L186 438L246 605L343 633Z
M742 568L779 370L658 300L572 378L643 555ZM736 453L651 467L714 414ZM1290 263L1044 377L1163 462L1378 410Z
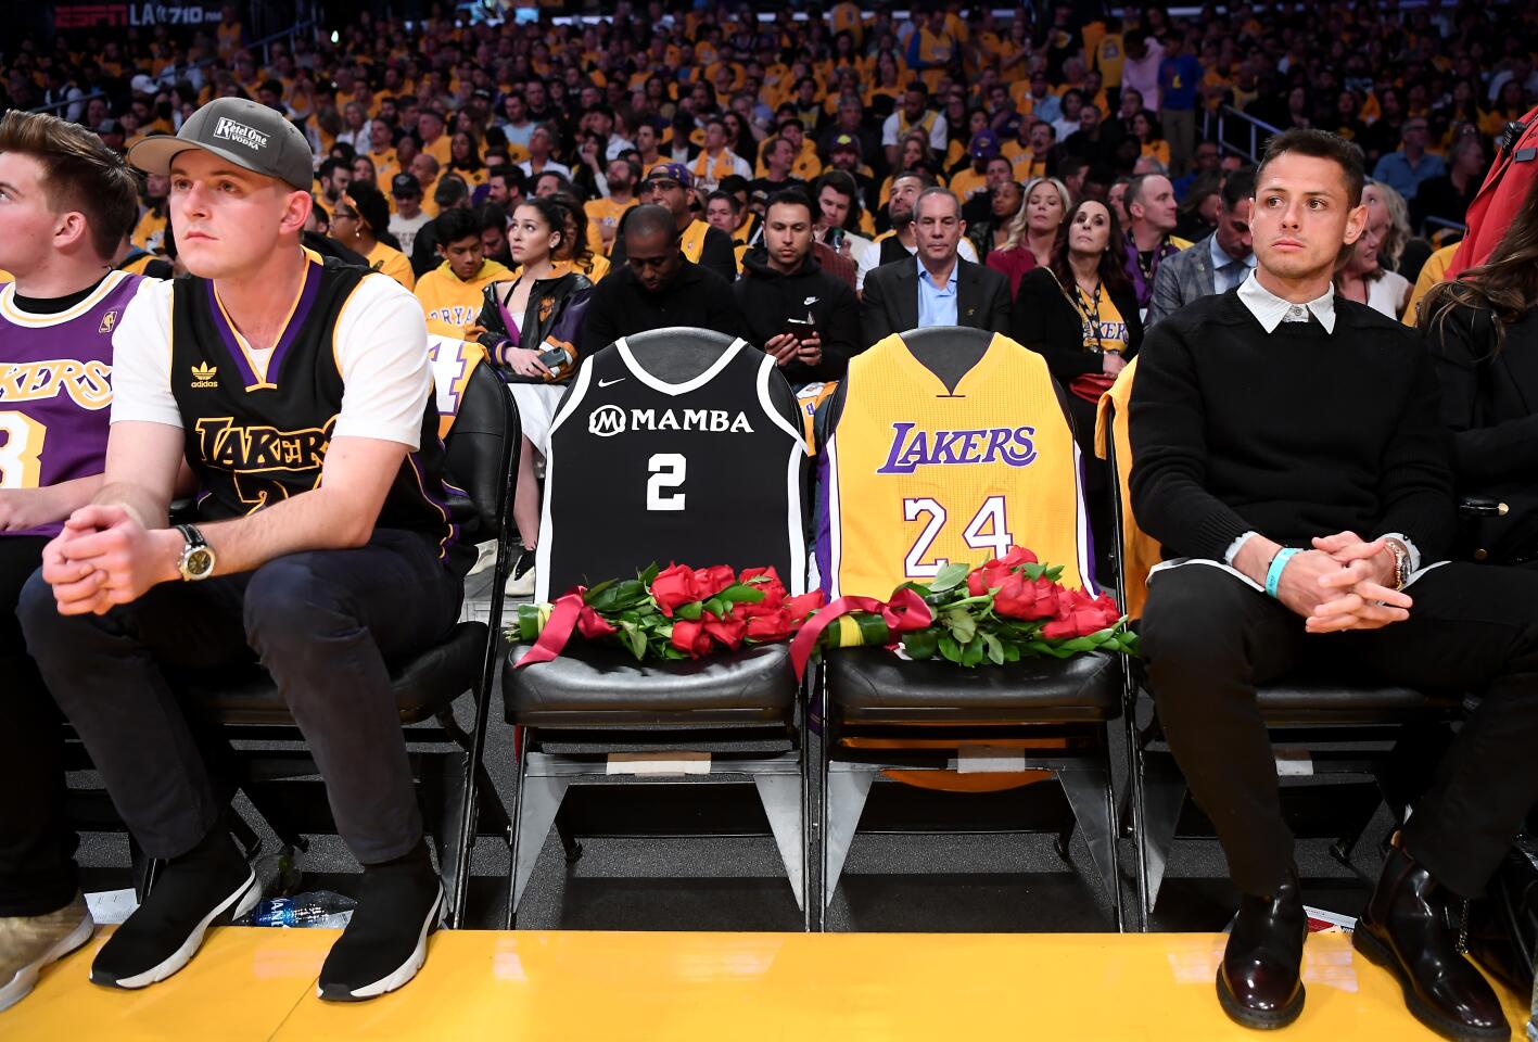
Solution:
M1275 332L1237 291L1201 297L1143 342L1129 414L1132 509L1166 557L1221 560L1255 529L1403 533L1426 562L1452 542L1450 446L1413 329L1335 299Z

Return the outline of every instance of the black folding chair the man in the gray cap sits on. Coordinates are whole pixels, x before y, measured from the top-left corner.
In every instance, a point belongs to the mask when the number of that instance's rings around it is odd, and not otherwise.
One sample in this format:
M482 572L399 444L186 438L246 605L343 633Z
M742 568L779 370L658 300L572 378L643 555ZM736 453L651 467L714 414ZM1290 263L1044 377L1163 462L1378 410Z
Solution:
M504 836L511 827L486 773L483 750L500 653L503 585L511 568L503 519L512 505L520 437L506 383L491 365L478 365L464 386L444 448L449 480L464 493L463 499L449 503L460 522L461 540L497 540L491 613L486 622L460 622L435 646L391 663L401 725L432 722L431 726L412 726L406 739L423 819L449 894L451 927L463 927L471 848L480 831L480 816L488 817L488 834ZM409 594L401 591L401 596ZM335 830L323 783L314 780L315 760L265 670L251 666L235 676L180 677L175 683L194 717L211 771L226 791L246 793L285 847L306 850L306 833ZM454 703L464 693L474 694L471 730L454 717ZM252 743L263 748L251 748ZM274 743L283 748L271 748ZM248 854L254 854L255 833L237 814L229 817L237 839ZM154 867L135 863L135 877L148 888Z

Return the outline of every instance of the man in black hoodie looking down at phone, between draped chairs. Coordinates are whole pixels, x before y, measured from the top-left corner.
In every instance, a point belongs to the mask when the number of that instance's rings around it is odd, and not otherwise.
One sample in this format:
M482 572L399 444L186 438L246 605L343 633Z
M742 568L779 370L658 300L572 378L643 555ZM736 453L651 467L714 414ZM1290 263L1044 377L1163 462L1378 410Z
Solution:
M860 302L843 279L812 257L812 200L789 188L769 197L764 240L743 254L732 296L747 320L747 339L772 354L791 386L841 380L860 342ZM809 320L792 328L787 322Z

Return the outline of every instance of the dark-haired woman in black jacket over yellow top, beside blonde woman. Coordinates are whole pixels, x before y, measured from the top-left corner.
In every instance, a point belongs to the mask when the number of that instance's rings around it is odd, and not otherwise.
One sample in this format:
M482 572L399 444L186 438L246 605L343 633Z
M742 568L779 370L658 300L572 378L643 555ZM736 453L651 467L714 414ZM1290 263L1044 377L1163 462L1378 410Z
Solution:
M1020 280L1012 336L1040 352L1067 391L1084 462L1084 499L1095 539L1095 569L1110 577L1110 477L1095 456L1100 396L1143 343L1138 299L1127 280L1121 228L1104 203L1084 199L1058 226L1052 263Z

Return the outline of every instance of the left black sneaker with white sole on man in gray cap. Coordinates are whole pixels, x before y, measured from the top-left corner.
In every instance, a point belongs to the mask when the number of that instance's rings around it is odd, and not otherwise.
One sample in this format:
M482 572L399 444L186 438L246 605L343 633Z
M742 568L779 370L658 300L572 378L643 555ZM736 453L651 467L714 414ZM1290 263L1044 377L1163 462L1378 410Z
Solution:
M145 902L102 945L91 982L145 988L165 980L192 959L209 927L238 919L260 897L255 873L220 827L166 862Z

